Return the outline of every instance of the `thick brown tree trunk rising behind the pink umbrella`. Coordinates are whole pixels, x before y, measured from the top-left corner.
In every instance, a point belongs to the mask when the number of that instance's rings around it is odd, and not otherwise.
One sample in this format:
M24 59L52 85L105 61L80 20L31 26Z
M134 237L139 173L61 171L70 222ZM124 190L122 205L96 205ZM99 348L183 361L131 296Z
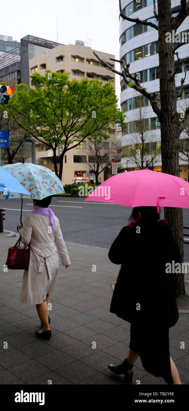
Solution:
M161 95L161 142L162 171L180 176L179 169L179 119L176 118L176 88L173 77L174 50L173 44L166 43L167 28L171 30L171 0L158 0L158 32L159 32L159 72ZM184 259L183 216L180 208L165 208L165 219L171 226L173 237L180 248L181 259ZM176 292L180 296L185 293L183 276L179 275Z

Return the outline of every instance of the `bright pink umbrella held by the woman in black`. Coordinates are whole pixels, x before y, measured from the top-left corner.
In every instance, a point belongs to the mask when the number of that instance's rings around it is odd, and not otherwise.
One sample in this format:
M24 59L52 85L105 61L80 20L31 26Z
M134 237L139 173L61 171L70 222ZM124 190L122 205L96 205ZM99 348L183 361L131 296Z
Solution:
M148 169L129 171L109 178L84 201L116 203L127 207L189 208L189 183L174 175Z

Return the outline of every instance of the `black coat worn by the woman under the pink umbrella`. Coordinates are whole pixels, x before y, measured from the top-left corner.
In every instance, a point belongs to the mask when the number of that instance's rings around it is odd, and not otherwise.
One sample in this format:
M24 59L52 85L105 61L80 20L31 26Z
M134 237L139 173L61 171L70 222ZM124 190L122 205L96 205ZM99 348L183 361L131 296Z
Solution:
M108 256L121 264L110 312L130 323L175 325L175 276L165 270L166 263L181 260L170 227L162 222L123 227Z

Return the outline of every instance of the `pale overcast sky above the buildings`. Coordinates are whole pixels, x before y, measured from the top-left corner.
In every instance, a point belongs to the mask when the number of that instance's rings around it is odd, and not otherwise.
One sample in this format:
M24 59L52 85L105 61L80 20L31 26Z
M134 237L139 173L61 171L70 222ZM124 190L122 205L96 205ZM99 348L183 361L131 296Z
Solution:
M82 40L119 58L118 0L9 0L1 2L0 34L20 41L28 34L63 44ZM89 44L87 44L89 42ZM116 68L120 68L118 64ZM120 95L116 74L116 95Z

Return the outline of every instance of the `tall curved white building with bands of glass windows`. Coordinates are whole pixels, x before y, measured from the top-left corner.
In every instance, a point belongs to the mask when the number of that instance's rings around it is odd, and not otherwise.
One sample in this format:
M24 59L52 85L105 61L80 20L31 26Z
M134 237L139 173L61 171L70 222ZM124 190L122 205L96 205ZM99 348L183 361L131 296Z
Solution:
M172 15L180 10L180 0L171 1ZM130 18L139 17L141 20L158 24L153 13L153 0L122 0L122 9ZM188 32L189 17L187 17L178 32ZM130 64L131 74L137 74L141 85L149 92L159 93L159 55L158 32L150 26L144 26L127 21L120 17L120 60L124 58ZM186 40L185 40L186 41ZM189 106L189 43L184 42L178 49L179 57L184 59L176 74L176 88L179 91L180 80L184 77L184 64L187 75L182 93L178 99L178 111ZM175 55L175 68L178 66ZM119 143L121 161L118 172L132 171L139 168L151 167L161 171L161 130L160 123L146 97L128 87L121 79L121 110L127 116ZM183 132L180 139L189 139ZM181 142L182 143L182 142ZM183 145L181 145L183 147ZM188 148L189 151L189 148ZM188 177L188 162L186 156L180 153L180 177ZM143 163L143 164L141 164ZM142 166L143 165L143 166Z

